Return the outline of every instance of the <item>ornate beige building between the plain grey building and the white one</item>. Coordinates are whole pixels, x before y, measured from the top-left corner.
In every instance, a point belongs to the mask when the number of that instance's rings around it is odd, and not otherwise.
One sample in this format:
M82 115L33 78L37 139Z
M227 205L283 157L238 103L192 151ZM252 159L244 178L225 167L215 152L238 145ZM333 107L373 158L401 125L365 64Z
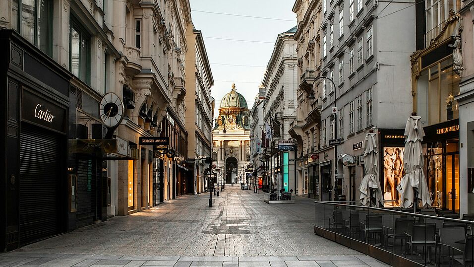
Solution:
M321 1L296 0L293 6L298 27L297 41L298 89L296 120L290 124L290 134L296 139L296 194L319 199L318 154L321 132L321 92L312 84L319 75L321 48ZM315 99L309 99L311 95Z

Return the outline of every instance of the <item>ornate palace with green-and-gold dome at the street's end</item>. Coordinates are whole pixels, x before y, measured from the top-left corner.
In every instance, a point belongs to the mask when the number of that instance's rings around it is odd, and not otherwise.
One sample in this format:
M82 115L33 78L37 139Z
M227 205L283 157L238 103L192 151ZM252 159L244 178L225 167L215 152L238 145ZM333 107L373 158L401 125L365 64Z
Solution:
M214 168L221 183L248 183L246 172L250 160L250 126L245 98L236 85L219 106L219 117L212 132ZM217 182L217 181L216 181Z

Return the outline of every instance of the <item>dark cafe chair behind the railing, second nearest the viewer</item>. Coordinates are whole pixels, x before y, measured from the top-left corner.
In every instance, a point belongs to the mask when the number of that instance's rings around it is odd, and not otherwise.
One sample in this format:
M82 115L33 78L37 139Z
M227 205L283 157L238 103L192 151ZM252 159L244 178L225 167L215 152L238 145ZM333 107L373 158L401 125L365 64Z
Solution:
M412 233L406 233L407 242L405 243L410 249L410 255L413 257L413 251L417 247L423 247L423 255L425 253L425 248L429 249L428 251L428 262L430 261L431 248L436 249L436 224L434 223L415 223L413 225Z

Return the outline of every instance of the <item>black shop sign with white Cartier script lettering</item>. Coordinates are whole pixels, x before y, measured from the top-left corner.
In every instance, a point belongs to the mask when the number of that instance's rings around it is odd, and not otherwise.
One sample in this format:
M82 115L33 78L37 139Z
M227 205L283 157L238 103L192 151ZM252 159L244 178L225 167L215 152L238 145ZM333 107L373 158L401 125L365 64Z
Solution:
M66 110L28 90L23 90L21 119L54 131L65 133Z

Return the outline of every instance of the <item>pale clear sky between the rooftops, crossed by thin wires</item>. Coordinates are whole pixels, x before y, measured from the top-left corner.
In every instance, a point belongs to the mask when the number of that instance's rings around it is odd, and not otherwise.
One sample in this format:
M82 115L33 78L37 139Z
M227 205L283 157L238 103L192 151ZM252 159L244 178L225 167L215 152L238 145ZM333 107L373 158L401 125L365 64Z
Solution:
M211 63L214 78L211 95L216 99L214 118L219 115L221 99L231 90L232 83L251 108L278 34L296 26L294 3L294 0L190 0L192 21L202 31Z

